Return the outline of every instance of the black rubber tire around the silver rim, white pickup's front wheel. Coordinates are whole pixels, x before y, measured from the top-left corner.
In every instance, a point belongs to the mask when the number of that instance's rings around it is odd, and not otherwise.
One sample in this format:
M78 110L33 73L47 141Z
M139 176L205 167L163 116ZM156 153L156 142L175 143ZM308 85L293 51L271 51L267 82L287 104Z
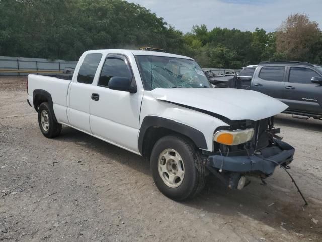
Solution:
M167 149L175 150L184 164L184 178L175 188L168 186L159 174L159 156ZM184 136L169 135L159 139L153 147L150 166L156 187L173 200L191 199L205 185L205 166L202 164L201 151Z

